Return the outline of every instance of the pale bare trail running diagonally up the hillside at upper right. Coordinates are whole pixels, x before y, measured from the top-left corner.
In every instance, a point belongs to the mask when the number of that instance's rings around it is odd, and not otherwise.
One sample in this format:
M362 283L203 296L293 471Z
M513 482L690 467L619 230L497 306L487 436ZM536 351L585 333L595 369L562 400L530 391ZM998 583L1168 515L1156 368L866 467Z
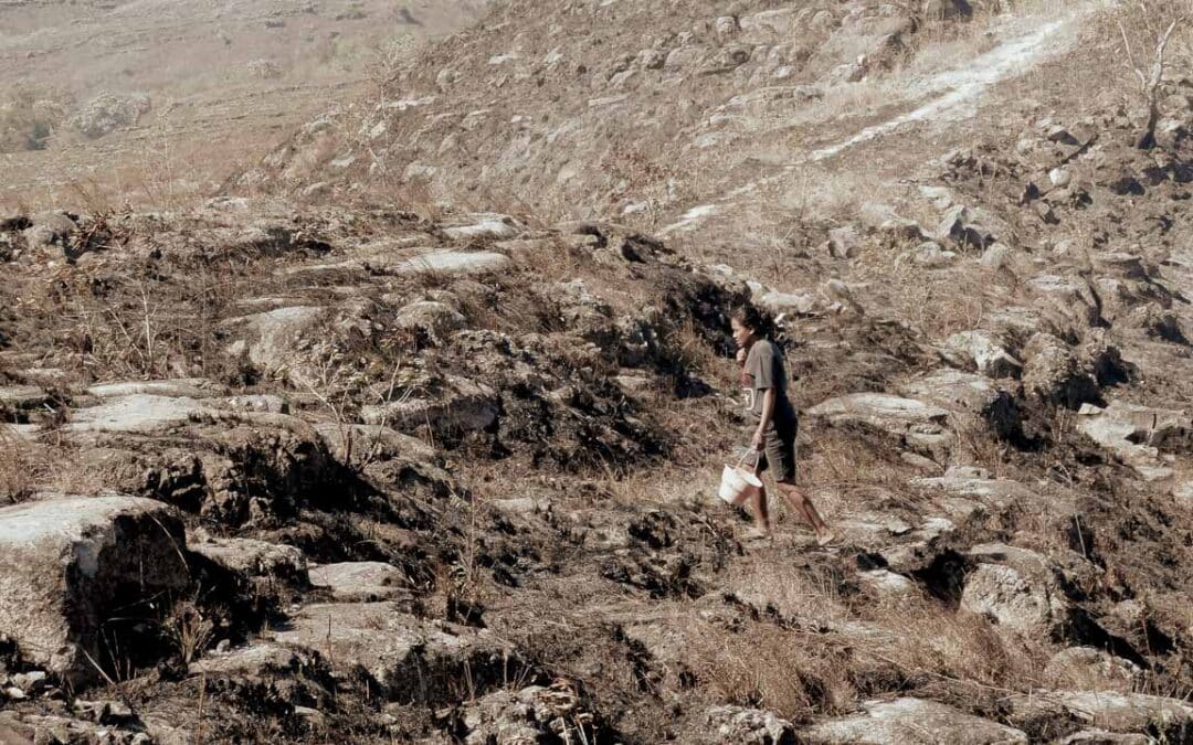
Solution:
M972 118L985 94L997 83L1030 73L1041 63L1074 48L1080 38L1083 23L1099 8L1101 0L1080 2L1062 14L1040 23L1038 15L1014 17L1000 20L988 33L1000 33L1005 38L990 51L927 77L911 80L895 88L888 85L892 97L914 105L910 111L871 124L853 135L822 145L815 150L796 154L777 173L749 181L733 188L712 201L688 209L675 222L660 230L663 236L682 234L697 228L707 229L705 223L716 215L731 215L743 197L758 194L775 186L809 163L833 160L853 148L895 136L917 125L932 128L956 126Z

